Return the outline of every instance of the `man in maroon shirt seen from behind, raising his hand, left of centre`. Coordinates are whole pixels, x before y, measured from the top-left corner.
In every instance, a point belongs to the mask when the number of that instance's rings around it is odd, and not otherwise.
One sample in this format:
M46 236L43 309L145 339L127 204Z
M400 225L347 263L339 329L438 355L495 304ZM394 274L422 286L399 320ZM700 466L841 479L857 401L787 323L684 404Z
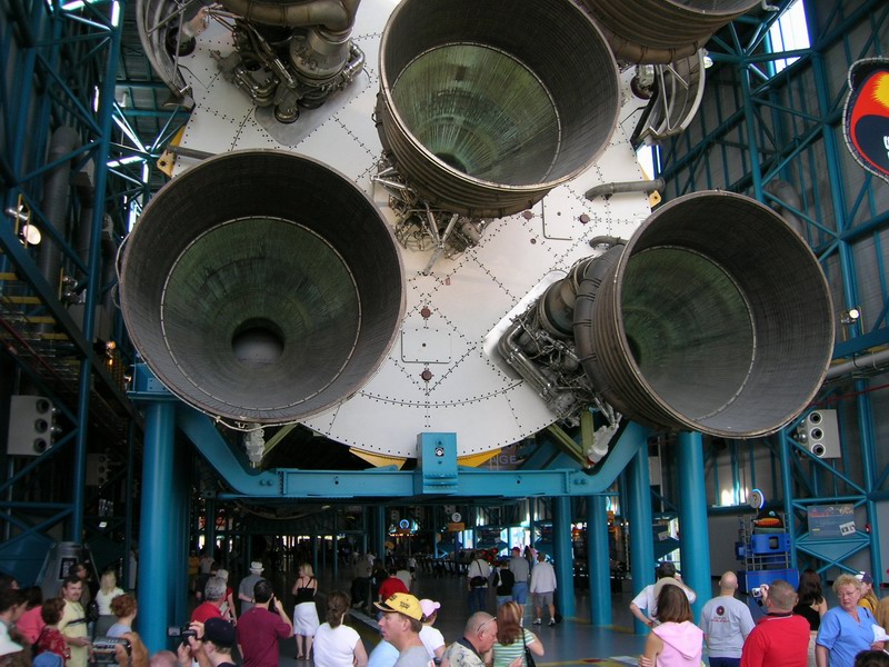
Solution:
M290 637L293 624L266 579L253 586L253 607L238 619L238 650L243 656L243 667L278 667L278 639Z

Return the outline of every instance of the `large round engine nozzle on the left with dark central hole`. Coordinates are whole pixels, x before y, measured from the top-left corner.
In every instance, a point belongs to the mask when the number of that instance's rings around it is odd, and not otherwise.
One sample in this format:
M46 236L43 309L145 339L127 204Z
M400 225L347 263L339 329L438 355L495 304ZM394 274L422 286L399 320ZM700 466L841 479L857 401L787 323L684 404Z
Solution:
M279 424L370 379L399 330L404 277L386 220L354 183L310 158L236 151L151 200L126 242L120 299L173 394L214 416Z

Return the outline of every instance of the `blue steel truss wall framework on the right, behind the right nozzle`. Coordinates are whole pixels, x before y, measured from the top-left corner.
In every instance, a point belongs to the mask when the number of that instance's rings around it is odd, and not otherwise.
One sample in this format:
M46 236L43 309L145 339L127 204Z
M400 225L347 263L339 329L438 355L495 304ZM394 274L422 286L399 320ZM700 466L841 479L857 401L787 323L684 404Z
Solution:
M780 12L758 23L736 21L711 40L708 49L716 66L708 73L708 87L716 90L706 92L692 127L659 147L658 176L668 183L668 197L720 188L792 213L802 222L802 233L835 290L837 311L862 306L862 281L877 286L876 290L871 287L870 293L877 296L868 303L867 326L859 320L841 328L835 348L837 360L858 358L889 342L889 280L880 235L889 215L879 206L886 183L869 173L862 177L843 146L848 88L837 83L837 72L861 58L886 54L889 4L880 0L802 1L809 49L770 52L769 28ZM786 9L790 1L779 4ZM798 60L776 73L773 62L789 57ZM779 183L787 187L776 187ZM799 198L789 197L788 190L799 192ZM866 265L856 257L855 247L862 241L872 245L872 259ZM889 466L880 469L878 464L871 395L882 387L871 386L867 377L847 378L846 386L853 387L848 396L832 396L835 390L827 388L817 402L830 401L841 411L842 430L855 434L857 429L857 447L849 436L843 442L843 460L828 464L790 437L793 424L773 446L781 464L775 477L782 481L795 564L798 558L815 558L821 571L832 567L848 570L852 569L849 558L869 550L876 575L882 571L882 564L875 504L887 495ZM729 446L737 487L741 445ZM755 474L750 454L749 472ZM853 458L860 459L855 475L847 472L855 468ZM838 540L842 544L813 540L806 529L806 507L831 502L861 508L870 531Z

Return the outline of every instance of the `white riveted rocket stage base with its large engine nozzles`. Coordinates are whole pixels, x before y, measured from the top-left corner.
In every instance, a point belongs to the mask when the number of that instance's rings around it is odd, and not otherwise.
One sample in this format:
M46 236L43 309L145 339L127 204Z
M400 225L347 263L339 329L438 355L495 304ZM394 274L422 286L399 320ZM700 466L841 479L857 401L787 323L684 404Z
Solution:
M635 2L692 42L718 28ZM796 417L832 352L816 258L739 195L583 197L642 179L628 63L687 56L585 4L143 0L194 109L181 148L214 156L178 159L126 246L158 378L226 421L390 457L424 431L491 451L590 407L738 438Z

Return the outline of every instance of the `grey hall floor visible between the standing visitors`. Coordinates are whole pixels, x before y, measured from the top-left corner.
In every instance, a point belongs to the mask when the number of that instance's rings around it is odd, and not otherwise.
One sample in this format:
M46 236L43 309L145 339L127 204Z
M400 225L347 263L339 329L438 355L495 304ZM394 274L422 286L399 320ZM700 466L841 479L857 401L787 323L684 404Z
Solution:
M323 596L334 589L344 590L347 594L350 588L350 578L342 574L334 578L321 573L319 579L319 617L323 623ZM348 569L348 568L346 568ZM288 614L292 615L292 596L290 589L293 586L294 576L290 574L277 573L272 578L276 591L284 600ZM238 581L231 581L232 588L237 589ZM418 578L411 593L420 598L430 598L441 604L436 627L444 635L444 640L450 644L462 636L463 626L469 616L467 606L466 578L455 575L434 577L418 573ZM560 624L549 627L548 618L543 618L543 625L533 626L533 609L529 604L526 607L525 623L528 628L540 637L543 643L545 655L537 660L541 667L549 665L570 666L589 665L591 663L605 665L636 665L639 654L642 651L646 635L633 634L632 616L629 611L629 604L632 594L629 591L612 594L612 625L609 627L592 627L590 625L589 597L586 590L577 590L577 613L573 617L566 617ZM495 597L489 594L488 611L495 613ZM347 624L356 628L364 641L368 654L379 641L376 620L370 616L353 609ZM281 641L280 667L308 666L304 660L296 660L296 641L290 638ZM705 651L706 655L706 651Z

